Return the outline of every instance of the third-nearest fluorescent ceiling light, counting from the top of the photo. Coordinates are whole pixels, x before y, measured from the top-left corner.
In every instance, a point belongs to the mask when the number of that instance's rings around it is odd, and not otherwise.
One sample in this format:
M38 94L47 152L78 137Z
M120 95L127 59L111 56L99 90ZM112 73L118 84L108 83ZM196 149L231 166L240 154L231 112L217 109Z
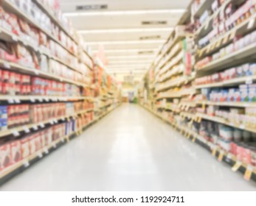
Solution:
M91 41L86 45L114 45L114 44L141 44L141 43L165 43L166 40L120 40L120 41Z

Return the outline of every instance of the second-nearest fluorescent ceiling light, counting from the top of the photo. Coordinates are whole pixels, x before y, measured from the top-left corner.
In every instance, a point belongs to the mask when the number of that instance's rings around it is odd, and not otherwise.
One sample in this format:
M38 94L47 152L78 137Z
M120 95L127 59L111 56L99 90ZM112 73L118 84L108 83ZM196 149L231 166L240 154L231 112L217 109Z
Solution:
M105 33L129 33L129 32L170 32L172 27L167 28L134 28L134 29L96 29L96 30L80 30L80 34L105 34Z

